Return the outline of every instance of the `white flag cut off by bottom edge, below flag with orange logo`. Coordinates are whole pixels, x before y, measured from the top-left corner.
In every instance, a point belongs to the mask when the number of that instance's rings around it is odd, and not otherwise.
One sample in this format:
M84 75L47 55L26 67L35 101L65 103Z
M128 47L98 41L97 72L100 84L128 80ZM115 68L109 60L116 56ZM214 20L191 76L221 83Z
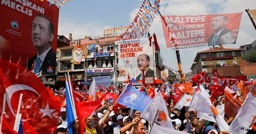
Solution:
M165 126L153 125L150 130L150 134L188 134L188 133L175 130L172 128L168 128Z

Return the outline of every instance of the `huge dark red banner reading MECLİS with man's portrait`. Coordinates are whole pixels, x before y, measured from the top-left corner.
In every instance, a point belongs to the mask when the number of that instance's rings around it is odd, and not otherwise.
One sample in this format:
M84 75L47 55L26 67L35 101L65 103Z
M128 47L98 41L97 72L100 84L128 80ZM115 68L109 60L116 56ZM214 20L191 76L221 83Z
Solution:
M20 65L30 70L37 61L37 71L55 73L59 8L47 0L0 1L1 58L11 57L13 63L21 59Z

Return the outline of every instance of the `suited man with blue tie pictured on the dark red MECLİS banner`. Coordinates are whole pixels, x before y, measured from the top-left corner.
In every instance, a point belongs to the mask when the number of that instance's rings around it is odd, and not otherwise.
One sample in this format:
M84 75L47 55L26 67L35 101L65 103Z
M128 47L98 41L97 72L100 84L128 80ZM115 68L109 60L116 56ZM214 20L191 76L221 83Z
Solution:
M34 73L42 69L42 73L54 73L56 68L56 53L52 50L54 27L52 21L45 15L37 15L32 24L32 41L37 54L28 60L28 69L33 63Z

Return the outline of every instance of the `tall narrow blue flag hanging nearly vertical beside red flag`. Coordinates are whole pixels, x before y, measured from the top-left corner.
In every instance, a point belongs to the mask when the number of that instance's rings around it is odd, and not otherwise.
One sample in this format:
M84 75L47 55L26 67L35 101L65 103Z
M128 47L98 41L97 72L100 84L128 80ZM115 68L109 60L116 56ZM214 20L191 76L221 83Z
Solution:
M72 110L72 101L69 98L70 92L68 91L67 86L66 82L67 130L69 134L73 134L72 124L75 122L75 117Z

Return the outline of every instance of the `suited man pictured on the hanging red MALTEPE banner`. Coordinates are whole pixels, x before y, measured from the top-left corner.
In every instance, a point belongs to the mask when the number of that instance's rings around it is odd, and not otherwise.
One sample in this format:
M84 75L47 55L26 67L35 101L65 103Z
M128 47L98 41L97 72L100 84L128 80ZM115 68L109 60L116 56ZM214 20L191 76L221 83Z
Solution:
M238 29L228 30L226 24L228 17L225 15L217 15L211 19L210 27L215 32L208 37L208 46L232 44L236 42Z

